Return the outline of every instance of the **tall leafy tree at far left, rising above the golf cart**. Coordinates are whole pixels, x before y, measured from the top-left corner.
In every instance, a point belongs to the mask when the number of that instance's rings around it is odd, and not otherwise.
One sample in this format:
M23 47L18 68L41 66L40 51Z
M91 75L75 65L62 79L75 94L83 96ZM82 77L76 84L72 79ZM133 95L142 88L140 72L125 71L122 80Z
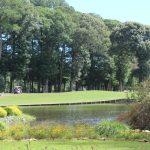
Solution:
M10 75L10 92L12 91L14 79L23 78L27 71L29 63L29 32L33 25L36 15L30 1L10 0L2 1L3 7L1 13L2 35L5 36L5 48L3 56L7 56L7 72ZM32 13L32 15L30 15ZM2 59L4 60L4 59ZM3 62L2 62L3 63ZM1 68L2 70L5 68Z

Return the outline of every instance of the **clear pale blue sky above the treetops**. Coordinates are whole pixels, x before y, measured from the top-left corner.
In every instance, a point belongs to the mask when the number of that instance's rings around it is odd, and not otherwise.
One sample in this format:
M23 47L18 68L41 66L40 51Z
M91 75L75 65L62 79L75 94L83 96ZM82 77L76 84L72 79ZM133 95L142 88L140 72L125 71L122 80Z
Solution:
M150 0L66 0L75 10L105 19L150 25Z

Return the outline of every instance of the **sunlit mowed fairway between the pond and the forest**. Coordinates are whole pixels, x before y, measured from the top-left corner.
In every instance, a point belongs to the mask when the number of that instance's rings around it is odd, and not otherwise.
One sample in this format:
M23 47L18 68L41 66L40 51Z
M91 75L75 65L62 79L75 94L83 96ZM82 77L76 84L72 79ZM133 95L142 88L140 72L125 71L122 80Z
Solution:
M79 91L64 93L6 94L0 96L0 106L95 102L127 98L125 92Z

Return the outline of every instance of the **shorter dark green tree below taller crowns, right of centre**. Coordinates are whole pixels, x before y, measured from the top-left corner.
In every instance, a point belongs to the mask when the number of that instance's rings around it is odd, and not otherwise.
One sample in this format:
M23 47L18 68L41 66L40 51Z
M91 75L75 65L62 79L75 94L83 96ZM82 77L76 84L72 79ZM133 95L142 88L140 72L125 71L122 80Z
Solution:
M93 53L92 64L87 77L88 89L112 90L114 67L114 61L108 53Z

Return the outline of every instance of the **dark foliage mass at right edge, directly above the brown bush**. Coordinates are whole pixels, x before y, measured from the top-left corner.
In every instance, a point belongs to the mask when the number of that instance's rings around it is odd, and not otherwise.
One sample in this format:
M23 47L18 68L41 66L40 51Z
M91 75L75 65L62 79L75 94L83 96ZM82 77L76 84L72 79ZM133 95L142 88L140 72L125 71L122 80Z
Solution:
M137 77L140 82L149 77L149 35L148 27L134 22L121 24L112 32L110 52L115 55L116 78L120 86L124 86L130 76Z

